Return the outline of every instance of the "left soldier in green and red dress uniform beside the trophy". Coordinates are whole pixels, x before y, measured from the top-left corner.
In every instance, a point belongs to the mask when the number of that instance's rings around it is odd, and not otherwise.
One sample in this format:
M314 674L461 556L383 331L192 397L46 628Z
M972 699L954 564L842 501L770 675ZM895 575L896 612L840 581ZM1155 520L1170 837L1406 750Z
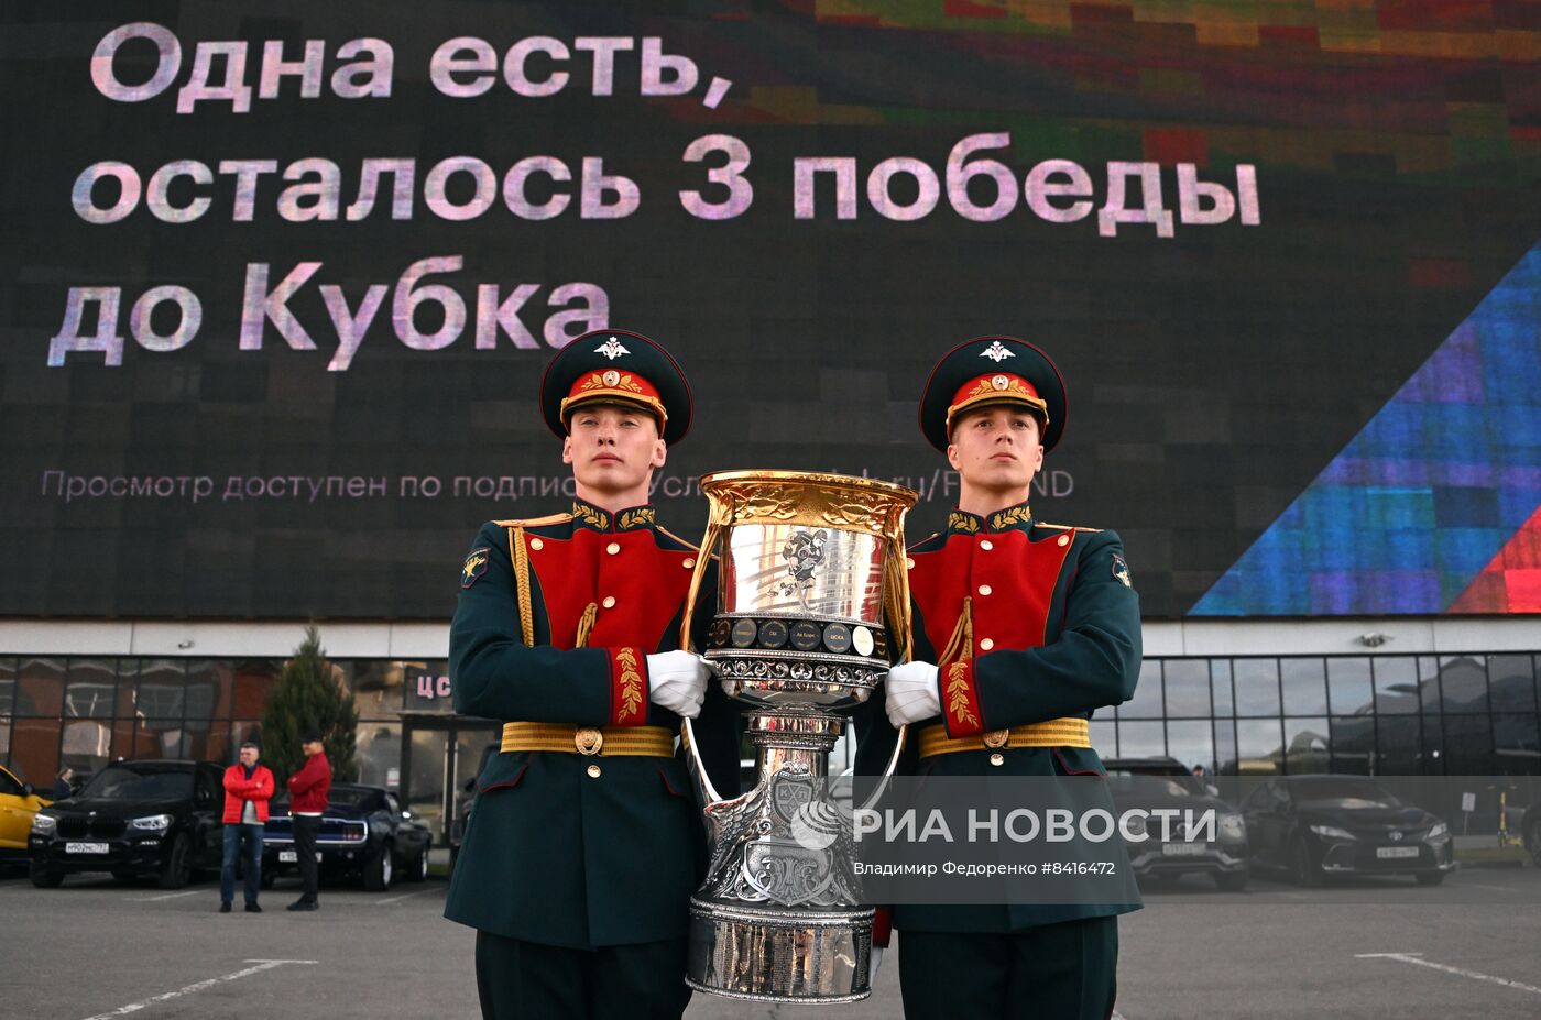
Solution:
M738 764L737 713L680 650L698 552L647 505L690 393L663 347L604 330L552 359L541 408L576 499L482 525L459 570L455 709L504 727L444 914L476 928L484 1017L675 1018L706 852L681 718L717 783Z

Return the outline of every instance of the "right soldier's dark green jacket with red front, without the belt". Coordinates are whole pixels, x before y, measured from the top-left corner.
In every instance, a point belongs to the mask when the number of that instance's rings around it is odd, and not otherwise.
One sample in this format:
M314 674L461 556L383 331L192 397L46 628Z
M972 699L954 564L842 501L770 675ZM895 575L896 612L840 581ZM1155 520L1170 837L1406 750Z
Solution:
M1113 532L1040 524L1026 504L988 518L954 510L948 528L909 550L914 658L938 663L943 713L909 727L898 775L1103 775L1089 747L966 750L922 760L918 733L943 724L949 736L1091 718L1134 695L1140 672L1140 607L1123 547ZM966 609L965 609L966 607ZM969 655L959 650L968 646ZM857 773L888 764L897 730L874 696L855 718ZM1103 807L1113 810L1113 798ZM1119 841L1108 854L1122 869ZM1139 909L1113 904L895 906L894 928L1011 932Z

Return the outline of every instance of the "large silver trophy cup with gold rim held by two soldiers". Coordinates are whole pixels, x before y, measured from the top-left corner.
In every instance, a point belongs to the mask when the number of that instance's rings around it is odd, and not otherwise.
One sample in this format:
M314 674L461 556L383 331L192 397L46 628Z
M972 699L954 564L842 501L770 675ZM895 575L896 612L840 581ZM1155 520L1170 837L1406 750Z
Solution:
M718 615L700 650L750 709L758 781L721 800L692 744L710 864L690 898L686 981L734 998L855 1002L871 992L874 909L860 906L829 752L841 713L909 658L903 527L917 493L804 471L718 471L701 490L710 518L686 612L718 555Z

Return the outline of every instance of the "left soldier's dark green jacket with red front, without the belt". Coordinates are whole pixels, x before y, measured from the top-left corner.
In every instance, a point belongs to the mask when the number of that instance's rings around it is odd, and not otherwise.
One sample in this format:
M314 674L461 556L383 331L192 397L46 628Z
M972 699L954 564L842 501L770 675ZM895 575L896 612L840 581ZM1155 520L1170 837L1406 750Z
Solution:
M678 730L680 716L647 698L646 656L680 647L695 558L656 527L652 507L610 515L575 502L573 513L482 525L450 630L456 712ZM695 616L703 627L717 590L709 570ZM695 732L718 789L737 789L735 720L709 684ZM678 938L704 854L698 795L678 753L498 753L478 780L444 915L578 949Z

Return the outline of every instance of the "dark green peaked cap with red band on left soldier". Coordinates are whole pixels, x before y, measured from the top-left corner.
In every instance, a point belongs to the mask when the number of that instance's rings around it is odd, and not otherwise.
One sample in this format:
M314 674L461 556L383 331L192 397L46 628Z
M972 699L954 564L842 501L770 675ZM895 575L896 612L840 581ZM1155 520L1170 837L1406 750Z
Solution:
M558 436L584 404L633 404L675 444L690 430L690 384L680 364L641 333L595 330L556 353L541 379L541 413Z

